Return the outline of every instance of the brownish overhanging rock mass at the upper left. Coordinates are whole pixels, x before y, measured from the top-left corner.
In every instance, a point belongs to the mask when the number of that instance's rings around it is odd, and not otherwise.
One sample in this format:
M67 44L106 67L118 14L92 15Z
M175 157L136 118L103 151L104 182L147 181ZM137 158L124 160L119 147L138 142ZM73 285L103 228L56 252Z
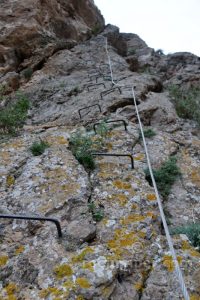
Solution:
M54 52L104 26L92 0L1 1L0 20L1 74L40 69Z

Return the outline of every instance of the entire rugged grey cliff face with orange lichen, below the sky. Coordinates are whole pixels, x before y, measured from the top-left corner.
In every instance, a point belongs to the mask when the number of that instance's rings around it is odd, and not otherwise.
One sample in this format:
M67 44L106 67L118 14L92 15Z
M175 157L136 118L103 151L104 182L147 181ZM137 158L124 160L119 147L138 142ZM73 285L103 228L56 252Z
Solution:
M30 101L15 136L0 114L0 214L57 218L63 233L58 239L50 222L0 219L0 299L183 299L145 175L130 86L153 168L176 156L181 173L161 196L169 227L200 227L198 118L178 116L169 92L187 96L192 88L200 101L199 57L163 55L136 34L104 26L92 0L0 2L0 107L15 103L18 88ZM112 90L106 38L114 80L125 88ZM127 131L105 123L116 119ZM131 154L134 169L129 157L112 156L94 156L95 168L84 168L72 152L75 132L95 152ZM43 154L31 153L34 141L48 143ZM172 236L192 300L200 299L199 236L196 244L191 234Z

